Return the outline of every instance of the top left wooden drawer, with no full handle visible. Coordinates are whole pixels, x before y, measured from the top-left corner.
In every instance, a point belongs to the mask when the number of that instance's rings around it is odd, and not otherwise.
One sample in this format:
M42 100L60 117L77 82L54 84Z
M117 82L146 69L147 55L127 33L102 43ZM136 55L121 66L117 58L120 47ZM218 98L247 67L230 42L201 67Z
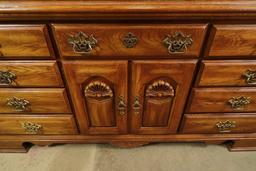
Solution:
M52 58L45 25L0 25L0 58Z

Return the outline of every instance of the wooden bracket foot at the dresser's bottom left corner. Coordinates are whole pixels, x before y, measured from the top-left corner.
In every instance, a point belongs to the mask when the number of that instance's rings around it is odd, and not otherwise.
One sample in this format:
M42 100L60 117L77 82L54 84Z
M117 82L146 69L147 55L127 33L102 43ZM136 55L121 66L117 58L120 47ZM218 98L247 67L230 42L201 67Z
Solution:
M23 142L0 142L0 152L2 153L26 153L29 146L23 145Z

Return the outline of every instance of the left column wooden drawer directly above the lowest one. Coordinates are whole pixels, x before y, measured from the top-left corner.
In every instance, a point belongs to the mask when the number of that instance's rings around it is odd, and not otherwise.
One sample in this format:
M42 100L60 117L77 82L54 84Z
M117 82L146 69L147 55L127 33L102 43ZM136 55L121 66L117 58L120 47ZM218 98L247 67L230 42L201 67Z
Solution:
M71 113L63 88L0 88L0 113Z

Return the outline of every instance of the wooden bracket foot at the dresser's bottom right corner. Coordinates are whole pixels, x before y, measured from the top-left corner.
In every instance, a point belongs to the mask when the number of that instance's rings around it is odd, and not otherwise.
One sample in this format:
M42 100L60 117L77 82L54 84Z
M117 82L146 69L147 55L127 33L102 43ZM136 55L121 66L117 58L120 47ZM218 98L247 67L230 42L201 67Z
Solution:
M256 151L256 140L236 140L228 146L230 151Z

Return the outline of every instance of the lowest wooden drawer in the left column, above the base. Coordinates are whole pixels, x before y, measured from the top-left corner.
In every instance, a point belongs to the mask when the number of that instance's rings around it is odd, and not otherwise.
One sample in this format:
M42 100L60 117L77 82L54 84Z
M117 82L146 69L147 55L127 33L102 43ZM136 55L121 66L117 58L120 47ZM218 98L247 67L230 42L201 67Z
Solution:
M0 134L77 134L72 115L1 115Z

